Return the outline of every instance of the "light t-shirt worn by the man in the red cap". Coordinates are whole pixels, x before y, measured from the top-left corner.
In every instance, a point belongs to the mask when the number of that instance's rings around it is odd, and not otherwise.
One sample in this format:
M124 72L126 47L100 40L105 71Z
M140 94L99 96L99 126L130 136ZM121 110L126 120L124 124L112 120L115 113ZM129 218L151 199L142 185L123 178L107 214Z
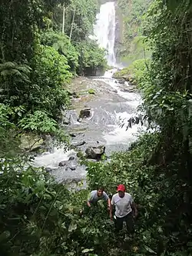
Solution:
M124 198L120 198L118 193L114 194L111 199L111 204L115 206L115 215L118 218L123 218L127 214L129 214L131 209L131 204L133 203L133 198L131 194L124 193Z

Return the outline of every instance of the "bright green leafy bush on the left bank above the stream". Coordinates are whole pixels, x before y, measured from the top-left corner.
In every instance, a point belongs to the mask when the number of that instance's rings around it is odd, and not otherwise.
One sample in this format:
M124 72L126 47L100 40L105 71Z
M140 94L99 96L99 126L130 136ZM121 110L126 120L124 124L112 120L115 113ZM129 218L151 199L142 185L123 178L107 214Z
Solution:
M51 47L39 45L33 59L35 70L28 104L32 109L46 111L56 117L62 106L68 105L65 85L71 81L68 61Z

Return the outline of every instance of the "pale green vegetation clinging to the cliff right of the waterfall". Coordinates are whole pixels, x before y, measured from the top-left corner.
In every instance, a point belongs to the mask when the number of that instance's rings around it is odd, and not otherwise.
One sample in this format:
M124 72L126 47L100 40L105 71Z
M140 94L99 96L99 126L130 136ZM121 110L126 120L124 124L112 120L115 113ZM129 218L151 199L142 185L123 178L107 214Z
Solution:
M143 40L143 15L151 4L151 0L118 0L118 8L123 16L121 47L118 48L120 61L126 65L137 59L150 57L151 52ZM127 8L124 8L127 6Z

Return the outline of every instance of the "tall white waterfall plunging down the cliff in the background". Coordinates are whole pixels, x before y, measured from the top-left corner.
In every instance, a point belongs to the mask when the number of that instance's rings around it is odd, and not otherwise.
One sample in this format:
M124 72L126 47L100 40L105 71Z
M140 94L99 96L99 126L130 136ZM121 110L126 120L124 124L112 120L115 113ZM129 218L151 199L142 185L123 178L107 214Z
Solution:
M97 22L94 25L94 36L98 44L107 50L106 56L108 65L114 66L116 58L114 55L115 38L115 8L114 2L106 2L101 5L100 12L97 15Z

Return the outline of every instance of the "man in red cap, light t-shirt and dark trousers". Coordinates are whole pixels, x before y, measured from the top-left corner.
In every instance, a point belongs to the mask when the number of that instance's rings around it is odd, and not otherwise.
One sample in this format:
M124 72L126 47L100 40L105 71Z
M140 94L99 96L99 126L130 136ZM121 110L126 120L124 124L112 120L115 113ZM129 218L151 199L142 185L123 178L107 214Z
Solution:
M134 233L134 216L137 216L137 208L135 207L131 194L125 192L124 185L118 185L118 193L114 194L111 199L111 220L113 220L113 207L115 207L114 224L116 231L122 230L125 221L127 224L127 231L131 234Z

